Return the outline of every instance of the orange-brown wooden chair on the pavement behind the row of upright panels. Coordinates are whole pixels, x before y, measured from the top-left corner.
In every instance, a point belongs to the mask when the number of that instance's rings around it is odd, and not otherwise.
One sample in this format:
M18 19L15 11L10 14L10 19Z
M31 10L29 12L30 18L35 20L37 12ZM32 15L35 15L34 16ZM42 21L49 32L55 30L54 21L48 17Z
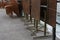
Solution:
M13 15L13 12L19 17L19 9L18 9L18 3L15 0L10 0L9 4L5 6L6 8L6 13L9 16Z

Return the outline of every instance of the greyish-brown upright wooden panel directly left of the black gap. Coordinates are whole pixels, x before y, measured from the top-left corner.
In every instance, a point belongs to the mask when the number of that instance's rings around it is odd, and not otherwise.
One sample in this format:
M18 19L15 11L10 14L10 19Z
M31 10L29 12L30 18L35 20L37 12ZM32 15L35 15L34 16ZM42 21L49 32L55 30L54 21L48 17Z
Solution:
M35 20L40 20L40 0L31 0L31 15Z

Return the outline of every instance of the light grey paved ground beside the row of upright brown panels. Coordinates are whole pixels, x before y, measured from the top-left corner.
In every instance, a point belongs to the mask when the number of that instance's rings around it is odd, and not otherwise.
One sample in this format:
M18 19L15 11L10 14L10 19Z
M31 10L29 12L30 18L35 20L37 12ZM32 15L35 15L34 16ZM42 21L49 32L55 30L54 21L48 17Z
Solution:
M0 9L0 40L33 40L33 37L20 18L10 18L4 9ZM52 40L52 38L34 40Z

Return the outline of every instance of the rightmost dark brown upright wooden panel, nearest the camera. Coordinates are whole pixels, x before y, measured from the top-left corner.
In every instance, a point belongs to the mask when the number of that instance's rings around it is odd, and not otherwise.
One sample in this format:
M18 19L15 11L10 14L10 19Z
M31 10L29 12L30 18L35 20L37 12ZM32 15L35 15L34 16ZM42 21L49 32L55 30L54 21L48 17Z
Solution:
M57 0L48 0L48 23L55 27L56 26L56 9Z

